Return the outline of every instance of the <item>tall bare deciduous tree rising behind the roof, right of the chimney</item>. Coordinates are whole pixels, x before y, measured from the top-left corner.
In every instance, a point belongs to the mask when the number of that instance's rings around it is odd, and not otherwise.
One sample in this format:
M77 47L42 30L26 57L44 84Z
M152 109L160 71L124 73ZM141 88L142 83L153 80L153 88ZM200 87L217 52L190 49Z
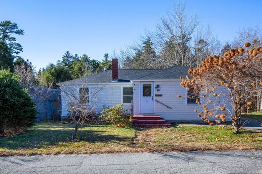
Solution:
M144 68L168 68L174 65L196 67L203 58L218 54L221 44L213 36L210 27L200 25L197 15L187 15L185 3L176 4L174 10L161 18L156 25L155 32L146 32L146 37L140 36L143 43L150 37L157 56L144 54ZM119 51L121 66L125 69L132 68L134 59L142 50L140 43L133 43ZM157 57L157 58L156 58Z

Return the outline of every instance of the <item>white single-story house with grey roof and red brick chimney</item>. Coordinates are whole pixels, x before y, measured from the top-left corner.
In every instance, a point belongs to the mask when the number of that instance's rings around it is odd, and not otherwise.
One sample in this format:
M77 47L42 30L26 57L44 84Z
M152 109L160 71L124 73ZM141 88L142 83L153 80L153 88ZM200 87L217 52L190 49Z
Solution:
M158 115L168 121L200 121L198 113L194 112L200 106L195 103L196 99L188 99L186 88L180 86L179 76L185 76L187 70L183 66L118 70L117 59L112 59L112 70L58 83L61 88L61 118L68 115L68 96L64 89L74 88L87 92L89 96L95 94L88 102L97 114L120 103L130 107L133 100L134 115Z

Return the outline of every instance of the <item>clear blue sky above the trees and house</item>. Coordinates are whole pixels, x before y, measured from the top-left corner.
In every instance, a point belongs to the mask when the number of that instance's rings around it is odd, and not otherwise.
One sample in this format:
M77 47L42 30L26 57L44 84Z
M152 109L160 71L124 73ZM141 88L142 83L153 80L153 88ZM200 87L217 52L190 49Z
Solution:
M104 53L128 45L153 31L159 18L176 1L12 1L0 0L0 21L11 20L25 31L17 37L20 55L36 69L55 63L63 53L87 54L101 60ZM187 1L188 13L197 14L222 41L231 41L243 27L262 27L262 1Z

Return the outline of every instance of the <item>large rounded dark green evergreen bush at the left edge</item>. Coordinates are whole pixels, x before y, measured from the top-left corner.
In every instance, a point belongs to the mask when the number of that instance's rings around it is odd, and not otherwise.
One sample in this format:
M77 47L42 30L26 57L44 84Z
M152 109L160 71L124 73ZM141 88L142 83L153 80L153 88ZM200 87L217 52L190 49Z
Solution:
M19 76L0 70L0 133L18 130L35 122L37 111L28 90L19 83Z

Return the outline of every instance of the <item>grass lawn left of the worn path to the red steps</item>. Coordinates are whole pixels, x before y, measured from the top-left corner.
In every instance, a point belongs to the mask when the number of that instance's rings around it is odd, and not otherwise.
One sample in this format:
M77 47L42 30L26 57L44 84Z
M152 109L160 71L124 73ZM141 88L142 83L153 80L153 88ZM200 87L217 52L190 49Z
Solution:
M136 130L112 125L85 125L78 141L71 141L73 128L59 122L37 123L21 135L0 137L0 155L121 152L133 142Z

